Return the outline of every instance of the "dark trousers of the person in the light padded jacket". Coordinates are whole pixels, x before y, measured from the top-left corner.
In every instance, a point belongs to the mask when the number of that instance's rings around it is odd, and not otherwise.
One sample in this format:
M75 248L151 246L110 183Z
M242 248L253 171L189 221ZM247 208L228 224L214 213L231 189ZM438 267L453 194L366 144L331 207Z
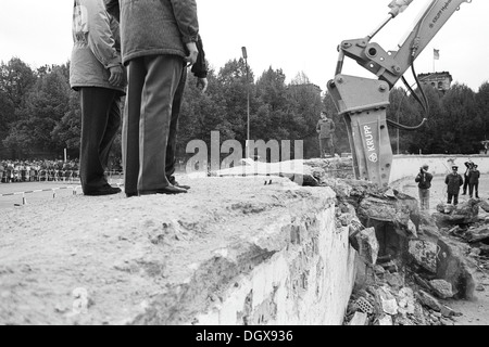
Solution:
M108 183L104 171L114 139L121 126L121 92L97 87L79 91L82 139L79 178L84 193Z

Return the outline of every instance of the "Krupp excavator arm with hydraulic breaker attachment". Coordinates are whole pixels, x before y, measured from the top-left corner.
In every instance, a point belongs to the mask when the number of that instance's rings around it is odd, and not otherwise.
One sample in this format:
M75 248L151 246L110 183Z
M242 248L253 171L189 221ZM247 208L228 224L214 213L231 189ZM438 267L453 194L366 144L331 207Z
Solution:
M386 119L390 90L460 5L472 2L431 0L397 51L385 51L372 42L373 37L412 1L392 0L389 16L371 35L341 42L335 78L327 85L338 113L347 124L356 179L368 180L379 187L388 185L392 165ZM377 79L343 75L344 57L356 61Z

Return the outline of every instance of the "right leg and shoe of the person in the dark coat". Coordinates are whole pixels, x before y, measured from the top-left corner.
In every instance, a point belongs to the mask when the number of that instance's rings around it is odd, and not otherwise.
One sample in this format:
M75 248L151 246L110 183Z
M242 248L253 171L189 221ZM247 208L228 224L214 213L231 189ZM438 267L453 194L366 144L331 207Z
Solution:
M165 172L166 145L173 99L184 64L181 57L176 55L154 55L145 57L145 66L147 75L141 93L137 187L140 194L151 194L171 185Z

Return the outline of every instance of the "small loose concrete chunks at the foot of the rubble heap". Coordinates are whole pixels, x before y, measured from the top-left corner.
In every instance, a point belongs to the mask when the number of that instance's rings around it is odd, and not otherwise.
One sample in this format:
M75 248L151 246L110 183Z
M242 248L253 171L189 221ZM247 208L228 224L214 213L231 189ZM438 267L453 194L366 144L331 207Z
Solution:
M454 296L444 280L428 281L396 260L367 272L367 283L351 296L344 325L454 325L461 316L440 301Z

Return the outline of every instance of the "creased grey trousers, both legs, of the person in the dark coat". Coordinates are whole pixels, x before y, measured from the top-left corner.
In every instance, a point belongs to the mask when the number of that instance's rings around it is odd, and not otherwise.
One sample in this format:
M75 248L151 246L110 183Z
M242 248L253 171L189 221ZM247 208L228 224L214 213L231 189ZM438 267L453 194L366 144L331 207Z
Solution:
M126 194L170 185L166 150L183 68L183 59L177 55L150 55L129 62L122 132Z

